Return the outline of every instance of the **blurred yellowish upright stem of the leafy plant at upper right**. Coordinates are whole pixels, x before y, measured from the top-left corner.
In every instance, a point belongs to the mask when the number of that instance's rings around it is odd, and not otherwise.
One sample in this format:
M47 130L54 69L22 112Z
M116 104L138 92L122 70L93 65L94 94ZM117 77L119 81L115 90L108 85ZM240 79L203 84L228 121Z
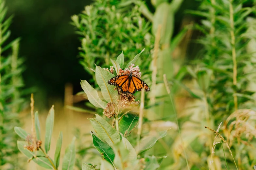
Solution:
M230 10L230 35L231 35L231 45L232 45L232 60L233 60L233 85L236 87L237 84L237 64L236 64L236 50L235 50L235 34L234 34L234 16L233 16L233 6L232 6L232 1L229 0L229 10ZM236 92L235 92L236 93ZM238 108L237 104L237 96L234 95L234 105L235 105L235 110Z

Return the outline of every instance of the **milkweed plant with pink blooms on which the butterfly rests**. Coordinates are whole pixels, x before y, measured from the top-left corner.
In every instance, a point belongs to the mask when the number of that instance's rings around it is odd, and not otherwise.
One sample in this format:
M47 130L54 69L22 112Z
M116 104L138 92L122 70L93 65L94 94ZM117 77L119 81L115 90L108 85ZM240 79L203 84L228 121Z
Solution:
M103 159L100 164L82 163L82 170L154 170L160 166L163 158L165 158L165 156L156 158L154 155L149 156L144 152L152 148L158 139L164 137L167 130L144 137L142 140L140 140L139 134L137 146L131 145L127 137L140 121L138 114L134 114L131 110L138 106L140 102L136 101L133 94L124 93L119 87L108 83L116 75L126 73L132 73L140 78L139 66L133 66L141 53L136 55L126 67L124 67L123 52L117 57L116 61L111 60L113 66L110 69L96 65L95 78L105 101L100 99L98 92L86 80L81 80L81 87L91 104L103 109L103 117L95 114L94 118L89 119L94 128L94 132L91 132L94 147ZM108 118L113 119L112 125L106 121Z

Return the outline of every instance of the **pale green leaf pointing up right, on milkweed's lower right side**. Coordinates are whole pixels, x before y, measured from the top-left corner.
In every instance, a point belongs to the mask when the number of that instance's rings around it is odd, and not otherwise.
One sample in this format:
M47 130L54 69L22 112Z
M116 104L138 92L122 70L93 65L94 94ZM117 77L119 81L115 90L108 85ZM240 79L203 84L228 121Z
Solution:
M143 138L142 141L139 143L139 145L136 146L136 148L135 148L137 155L152 148L156 144L157 140L166 136L166 134L167 134L167 130L158 132L156 135Z

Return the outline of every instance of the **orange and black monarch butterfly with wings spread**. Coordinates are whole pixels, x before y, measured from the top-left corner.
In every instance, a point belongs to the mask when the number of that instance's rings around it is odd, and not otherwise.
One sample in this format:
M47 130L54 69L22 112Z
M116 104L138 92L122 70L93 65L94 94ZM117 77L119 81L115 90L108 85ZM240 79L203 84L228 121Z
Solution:
M143 88L146 92L150 91L148 85L140 78L133 76L132 73L129 75L126 74L115 76L111 78L108 83L119 87L123 93L129 92L134 94L136 91L141 91Z

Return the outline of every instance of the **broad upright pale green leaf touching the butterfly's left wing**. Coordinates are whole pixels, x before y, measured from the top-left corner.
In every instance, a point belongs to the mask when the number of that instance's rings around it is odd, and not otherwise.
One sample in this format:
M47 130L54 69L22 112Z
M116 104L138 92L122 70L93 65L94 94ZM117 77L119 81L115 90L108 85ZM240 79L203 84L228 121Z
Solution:
M115 86L112 86L108 83L108 81L115 77L115 75L108 72L107 70L102 69L100 66L96 66L95 77L104 99L107 102L116 101L118 92L114 90Z

